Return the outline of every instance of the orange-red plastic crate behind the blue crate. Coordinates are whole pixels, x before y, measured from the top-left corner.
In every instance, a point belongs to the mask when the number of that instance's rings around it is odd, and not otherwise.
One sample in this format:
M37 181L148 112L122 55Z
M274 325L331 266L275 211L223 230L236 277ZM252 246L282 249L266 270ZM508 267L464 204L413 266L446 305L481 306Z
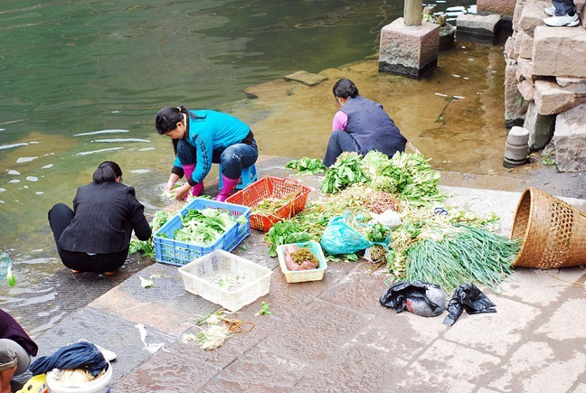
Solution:
M254 212L254 206L261 201L267 198L282 198L291 192L299 192L299 194L273 214L257 214ZM299 211L302 211L305 208L309 192L311 192L309 187L299 184L293 179L265 176L249 184L245 189L236 192L226 202L250 207L250 228L266 232L273 224L281 220L288 220L298 214Z

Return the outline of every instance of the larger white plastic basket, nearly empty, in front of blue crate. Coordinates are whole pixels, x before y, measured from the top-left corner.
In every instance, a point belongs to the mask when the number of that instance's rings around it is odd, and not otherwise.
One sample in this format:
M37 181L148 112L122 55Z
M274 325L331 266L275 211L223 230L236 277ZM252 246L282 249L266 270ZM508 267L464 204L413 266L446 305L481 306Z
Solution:
M233 312L267 295L272 273L267 267L222 249L198 257L178 270L185 290Z

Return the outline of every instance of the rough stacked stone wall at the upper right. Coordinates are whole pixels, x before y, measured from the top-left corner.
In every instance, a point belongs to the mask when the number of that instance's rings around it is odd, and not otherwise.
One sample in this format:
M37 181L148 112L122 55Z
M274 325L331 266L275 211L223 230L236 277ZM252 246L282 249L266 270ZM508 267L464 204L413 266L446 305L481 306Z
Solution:
M529 147L553 142L562 172L586 171L586 0L581 25L549 27L549 1L517 0L505 45L505 122L529 130Z

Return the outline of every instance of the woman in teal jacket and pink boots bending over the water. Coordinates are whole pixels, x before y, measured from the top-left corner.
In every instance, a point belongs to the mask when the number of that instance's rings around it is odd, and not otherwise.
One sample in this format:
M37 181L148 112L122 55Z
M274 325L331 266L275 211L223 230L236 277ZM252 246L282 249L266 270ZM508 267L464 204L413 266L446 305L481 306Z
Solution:
M242 168L256 163L259 148L250 127L236 117L213 110L168 107L156 114L156 131L173 139L175 163L166 192L181 200L203 192L203 178L212 164L222 164L222 191L214 198L225 201L240 181ZM177 189L175 183L187 182Z

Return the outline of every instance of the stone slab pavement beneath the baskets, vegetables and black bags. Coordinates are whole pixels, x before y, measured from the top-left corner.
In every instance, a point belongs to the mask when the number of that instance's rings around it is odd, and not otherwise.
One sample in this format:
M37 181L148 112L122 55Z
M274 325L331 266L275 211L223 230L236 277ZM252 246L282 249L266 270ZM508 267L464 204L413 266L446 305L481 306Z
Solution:
M280 171L287 174L282 166ZM295 178L314 189L320 182L318 176ZM454 194L449 201L455 206L495 211L502 222L512 222L520 197L520 192L446 190ZM497 313L463 313L447 327L446 313L423 318L379 304L387 275L382 269L372 272L368 262L330 263L322 281L288 284L278 260L267 255L263 236L252 231L234 250L273 270L269 294L233 315L254 323L252 331L234 334L214 351L186 342L185 336L199 329L198 315L220 306L187 293L176 267L153 264L36 338L41 355L80 338L118 352L112 392L579 392L586 387L586 273L579 267L517 269L499 295L485 291ZM153 276L155 286L143 288L138 276ZM256 315L263 301L273 314ZM137 323L147 326L147 343L162 342L164 348L147 352Z

